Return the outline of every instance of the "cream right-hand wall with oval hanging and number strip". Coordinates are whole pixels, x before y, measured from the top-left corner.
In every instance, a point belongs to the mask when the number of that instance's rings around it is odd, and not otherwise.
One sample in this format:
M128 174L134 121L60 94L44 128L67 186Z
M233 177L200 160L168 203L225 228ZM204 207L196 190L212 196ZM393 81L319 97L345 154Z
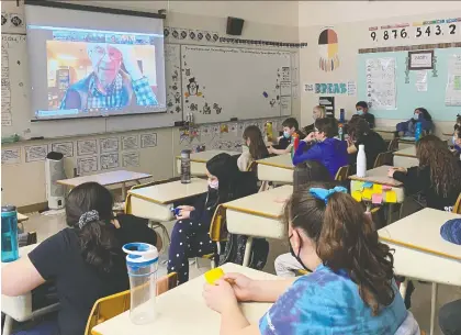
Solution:
M369 27L402 22L418 22L435 19L459 18L459 1L300 1L300 40L307 42L308 47L300 54L301 86L301 123L312 123L312 108L318 104L318 94L304 92L304 83L358 81L357 59L359 48L376 47L370 38ZM333 71L324 71L318 66L318 35L326 26L333 27L338 35L339 67ZM438 42L460 42L458 37L439 36ZM414 36L404 42L397 41L392 46L424 44ZM383 45L378 45L383 46ZM398 87L397 87L398 94ZM356 112L357 96L335 96L336 111L347 111L347 118ZM398 108L398 107L397 107ZM416 108L416 105L415 105ZM397 122L408 120L412 110L402 111L402 119L378 119L376 123L393 126ZM437 133L452 130L453 122L436 122Z

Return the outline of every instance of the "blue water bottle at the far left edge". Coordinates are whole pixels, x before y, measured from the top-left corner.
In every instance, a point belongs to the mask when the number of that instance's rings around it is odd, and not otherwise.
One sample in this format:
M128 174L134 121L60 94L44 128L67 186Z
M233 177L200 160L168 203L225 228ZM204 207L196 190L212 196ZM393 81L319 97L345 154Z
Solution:
M1 261L19 258L18 212L14 205L1 206Z

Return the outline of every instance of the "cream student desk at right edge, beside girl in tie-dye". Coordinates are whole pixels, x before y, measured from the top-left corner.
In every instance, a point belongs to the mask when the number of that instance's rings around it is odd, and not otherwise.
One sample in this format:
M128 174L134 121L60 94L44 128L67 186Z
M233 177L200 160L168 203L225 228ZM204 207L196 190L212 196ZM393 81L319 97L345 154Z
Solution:
M434 334L437 284L461 287L461 246L440 236L440 227L458 214L424 209L379 231L380 239L395 249L394 268L401 276L432 282L430 335ZM405 292L406 286L401 288Z

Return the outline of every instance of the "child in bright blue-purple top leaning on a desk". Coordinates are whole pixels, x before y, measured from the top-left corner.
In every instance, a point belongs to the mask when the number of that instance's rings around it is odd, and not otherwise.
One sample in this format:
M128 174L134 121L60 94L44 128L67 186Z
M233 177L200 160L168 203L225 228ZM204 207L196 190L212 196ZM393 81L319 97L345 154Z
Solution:
M305 160L317 160L329 171L333 178L341 166L348 165L347 144L345 141L334 138L338 135L338 121L333 118L317 119L315 132L308 134L300 142L293 156L293 165ZM307 143L317 142L307 148Z

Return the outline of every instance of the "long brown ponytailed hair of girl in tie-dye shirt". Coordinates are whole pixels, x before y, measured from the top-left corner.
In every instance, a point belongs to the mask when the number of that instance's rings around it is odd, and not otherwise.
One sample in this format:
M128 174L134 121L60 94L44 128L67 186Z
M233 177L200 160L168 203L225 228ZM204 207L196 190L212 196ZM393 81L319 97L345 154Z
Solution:
M319 199L312 187L328 196ZM362 206L349 194L311 183L295 191L286 203L285 220L302 228L316 244L316 254L333 271L345 270L359 287L363 302L378 315L395 298L392 287L394 258ZM318 190L318 189L317 189Z

